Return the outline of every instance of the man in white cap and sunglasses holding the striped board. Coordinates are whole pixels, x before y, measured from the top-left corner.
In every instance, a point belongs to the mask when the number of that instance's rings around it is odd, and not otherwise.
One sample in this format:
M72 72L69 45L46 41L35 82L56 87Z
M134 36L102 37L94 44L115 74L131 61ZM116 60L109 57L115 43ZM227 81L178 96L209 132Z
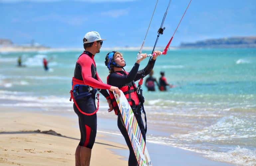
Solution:
M74 101L73 109L78 116L81 133L80 142L75 151L76 166L88 166L90 164L91 149L95 142L97 131L96 112L98 108L96 109L95 106L96 93L98 94L100 90L100 93L107 99L109 109L112 109L112 105L107 90L115 91L120 95L117 87L102 83L96 70L94 56L100 52L103 40L105 39L101 39L97 32L85 34L83 38L84 51L77 59L74 77L72 78L72 90L70 93Z

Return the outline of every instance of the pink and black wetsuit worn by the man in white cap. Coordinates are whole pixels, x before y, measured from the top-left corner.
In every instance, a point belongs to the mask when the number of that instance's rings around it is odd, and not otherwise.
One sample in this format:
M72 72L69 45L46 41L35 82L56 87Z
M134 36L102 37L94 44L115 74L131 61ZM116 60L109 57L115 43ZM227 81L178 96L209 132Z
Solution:
M96 64L94 61L94 55L88 51L84 51L77 59L74 71L74 78L82 80L84 85L88 85L92 88L101 89L100 93L109 98L109 94L106 89L110 89L110 85L102 83L99 75L96 71ZM95 106L95 92L83 86L80 90L84 92L89 92L91 95L84 96L82 98L76 99L78 107L84 113L93 113L96 110ZM81 133L81 139L79 142L80 146L85 146L92 149L92 146L96 137L97 130L97 115L87 116L82 114L75 104L73 104L75 113L78 116L79 128Z

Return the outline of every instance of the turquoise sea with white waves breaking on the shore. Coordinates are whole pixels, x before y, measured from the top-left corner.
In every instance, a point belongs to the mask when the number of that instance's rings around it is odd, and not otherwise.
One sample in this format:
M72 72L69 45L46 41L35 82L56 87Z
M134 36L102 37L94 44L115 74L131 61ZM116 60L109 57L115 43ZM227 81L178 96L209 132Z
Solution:
M62 107L69 102L79 51L0 53L0 99L6 107ZM107 51L96 54L97 71L106 82ZM129 71L137 51L122 51ZM150 51L146 52L150 53ZM22 56L26 67L16 67ZM44 71L42 59L53 58ZM142 69L147 59L141 62ZM169 50L157 58L154 76L165 71L176 85L167 92L147 92L148 140L198 151L218 161L256 164L256 49ZM101 97L102 99L102 97ZM101 100L101 108L106 102ZM110 116L99 112L99 116ZM152 131L150 130L152 129ZM161 128L163 132L153 132Z

